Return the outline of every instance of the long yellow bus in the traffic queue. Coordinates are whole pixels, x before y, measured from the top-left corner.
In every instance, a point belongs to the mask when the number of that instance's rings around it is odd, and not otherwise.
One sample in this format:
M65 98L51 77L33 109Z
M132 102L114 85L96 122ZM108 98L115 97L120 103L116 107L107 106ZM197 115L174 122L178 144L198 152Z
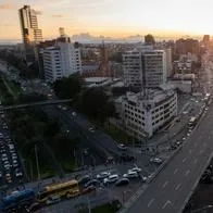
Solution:
M78 181L73 179L60 184L46 186L42 190L38 191L37 200L39 203L47 203L52 197L58 198L73 198L79 196Z

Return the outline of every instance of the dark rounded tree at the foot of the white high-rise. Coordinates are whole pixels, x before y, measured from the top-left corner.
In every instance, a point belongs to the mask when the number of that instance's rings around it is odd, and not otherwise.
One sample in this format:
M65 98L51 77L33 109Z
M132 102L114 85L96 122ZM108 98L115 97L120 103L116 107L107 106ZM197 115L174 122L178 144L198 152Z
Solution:
M59 98L74 98L82 89L83 79L79 74L63 77L53 84L53 89Z

